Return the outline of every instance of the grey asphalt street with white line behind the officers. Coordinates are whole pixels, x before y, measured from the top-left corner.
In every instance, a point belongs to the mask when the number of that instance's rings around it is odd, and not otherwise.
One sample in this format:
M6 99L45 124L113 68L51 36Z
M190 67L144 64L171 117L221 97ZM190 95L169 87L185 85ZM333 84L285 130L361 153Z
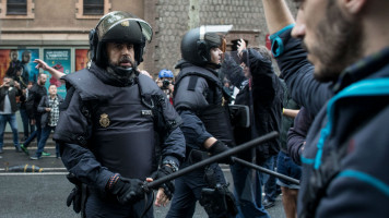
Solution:
M46 152L51 156L39 160L31 160L24 153L16 153L11 146L10 138L4 140L3 154L0 154L0 217L3 218L75 218L71 207L66 206L66 198L72 190L72 184L66 179L67 170L61 159L56 158L55 146L48 140ZM36 143L31 144L30 155L34 155ZM43 169L43 172L23 172ZM232 175L226 166L222 166L227 181L233 187ZM19 169L19 170L15 170ZM11 170L11 171L10 171ZM22 171L22 172L16 172ZM275 206L268 209L271 217L284 218L282 196L279 196ZM155 218L166 216L169 208L154 207ZM198 205L193 218L208 217L203 208Z

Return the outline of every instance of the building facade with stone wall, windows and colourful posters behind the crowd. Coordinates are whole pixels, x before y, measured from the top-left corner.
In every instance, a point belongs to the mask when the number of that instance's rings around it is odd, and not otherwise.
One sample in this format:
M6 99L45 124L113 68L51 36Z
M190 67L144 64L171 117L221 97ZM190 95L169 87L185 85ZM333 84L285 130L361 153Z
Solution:
M140 68L153 75L174 70L181 37L192 27L234 25L228 50L239 38L249 46L267 43L261 0L1 0L0 77L14 64L25 64L30 80L36 80L35 58L64 73L85 68L90 31L102 15L119 10L152 25L154 37Z

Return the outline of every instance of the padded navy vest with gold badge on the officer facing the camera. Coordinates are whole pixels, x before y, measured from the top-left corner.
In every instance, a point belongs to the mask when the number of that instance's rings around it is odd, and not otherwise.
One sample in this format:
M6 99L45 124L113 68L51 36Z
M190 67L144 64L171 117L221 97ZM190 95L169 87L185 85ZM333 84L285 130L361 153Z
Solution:
M86 146L102 166L126 178L144 180L152 173L156 106L162 96L156 84L140 74L127 87L104 84L84 69L66 76L83 100L92 135ZM161 108L160 108L161 109ZM177 123L174 119L172 126Z

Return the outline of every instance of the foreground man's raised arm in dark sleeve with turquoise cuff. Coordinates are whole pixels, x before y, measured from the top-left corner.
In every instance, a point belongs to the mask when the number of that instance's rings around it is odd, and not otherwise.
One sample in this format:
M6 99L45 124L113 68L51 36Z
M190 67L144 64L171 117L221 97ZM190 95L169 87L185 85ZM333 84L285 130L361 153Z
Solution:
M291 37L294 19L284 0L262 0L272 52L293 99L316 114L332 97L331 84L315 81L314 65L308 62L302 40Z

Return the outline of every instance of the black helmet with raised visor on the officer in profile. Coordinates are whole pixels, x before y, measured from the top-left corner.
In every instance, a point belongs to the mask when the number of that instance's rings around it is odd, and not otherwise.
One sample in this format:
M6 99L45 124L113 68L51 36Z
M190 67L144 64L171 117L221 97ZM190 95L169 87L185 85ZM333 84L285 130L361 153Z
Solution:
M232 25L220 25L190 29L181 40L182 59L194 65L211 63L210 49L222 45L222 38L217 33L228 32L231 28Z

